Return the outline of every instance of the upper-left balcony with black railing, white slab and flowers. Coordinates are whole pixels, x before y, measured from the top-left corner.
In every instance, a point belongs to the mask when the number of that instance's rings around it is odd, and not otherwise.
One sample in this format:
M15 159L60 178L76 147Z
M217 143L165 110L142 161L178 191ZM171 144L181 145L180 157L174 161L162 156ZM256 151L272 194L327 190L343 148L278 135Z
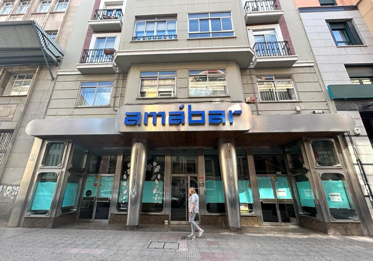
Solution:
M94 32L122 31L122 9L97 9L93 20L88 20Z

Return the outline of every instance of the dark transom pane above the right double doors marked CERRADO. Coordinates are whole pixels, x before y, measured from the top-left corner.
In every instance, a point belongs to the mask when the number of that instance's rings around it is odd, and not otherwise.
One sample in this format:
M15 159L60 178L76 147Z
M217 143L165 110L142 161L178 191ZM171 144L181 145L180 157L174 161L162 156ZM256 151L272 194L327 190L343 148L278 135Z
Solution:
M255 171L260 174L287 174L282 149L253 149Z

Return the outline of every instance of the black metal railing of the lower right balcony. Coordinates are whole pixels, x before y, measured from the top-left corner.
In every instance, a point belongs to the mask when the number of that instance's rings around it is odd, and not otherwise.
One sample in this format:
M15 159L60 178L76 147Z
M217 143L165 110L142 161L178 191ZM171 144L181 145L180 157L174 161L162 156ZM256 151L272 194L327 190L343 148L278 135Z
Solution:
M288 41L256 42L254 44L254 51L256 57L292 55Z

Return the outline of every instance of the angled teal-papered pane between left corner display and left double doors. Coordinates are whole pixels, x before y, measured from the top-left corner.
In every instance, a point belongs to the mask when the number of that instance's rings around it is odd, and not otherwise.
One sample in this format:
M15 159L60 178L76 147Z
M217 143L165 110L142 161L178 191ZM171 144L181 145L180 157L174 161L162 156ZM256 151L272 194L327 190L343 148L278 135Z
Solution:
M77 208L77 196L81 189L81 176L70 174L66 184L65 192L63 193L63 200L61 205L61 212L68 213L75 211Z

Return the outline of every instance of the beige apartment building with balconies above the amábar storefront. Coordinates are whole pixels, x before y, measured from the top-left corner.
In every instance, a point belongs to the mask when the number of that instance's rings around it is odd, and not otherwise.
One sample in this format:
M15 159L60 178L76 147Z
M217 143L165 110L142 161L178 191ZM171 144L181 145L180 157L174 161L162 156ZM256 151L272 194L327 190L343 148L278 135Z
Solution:
M372 219L293 1L81 0L8 226Z

